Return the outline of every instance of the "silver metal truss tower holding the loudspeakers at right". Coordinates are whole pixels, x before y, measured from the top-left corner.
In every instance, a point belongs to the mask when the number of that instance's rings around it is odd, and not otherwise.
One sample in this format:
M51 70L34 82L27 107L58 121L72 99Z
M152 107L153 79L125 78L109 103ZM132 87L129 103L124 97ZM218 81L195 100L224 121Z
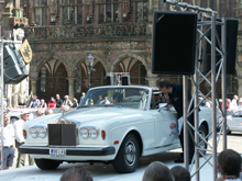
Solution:
M217 12L212 11L211 9L204 9L197 5L190 5L187 3L183 2L177 2L177 1L170 1L166 0L166 3L173 7L173 9L176 8L179 9L180 11L193 11L197 12L198 16L201 19L197 23L197 41L196 41L196 60L195 60L195 75L190 77L193 80L194 84L194 94L190 101L190 104L188 105L187 101L187 91L188 91L188 76L183 76L183 91L184 91L184 159L185 159L185 167L191 171L194 163L195 163L195 172L191 173L191 177L196 177L196 181L199 181L199 170L202 169L202 167L206 163L209 163L213 168L213 181L217 179L217 146L222 133L223 136L223 149L227 148L227 111L226 111L226 88L227 88L227 82L226 82L226 75L227 75L227 65L226 65L226 19L223 18L221 22L218 22L216 20L217 18ZM175 8L174 8L175 7ZM172 8L170 8L172 9ZM209 21L205 21L205 18L210 18ZM219 35L216 31L216 26L220 24L221 25L221 39L219 39ZM204 27L207 26L207 31L204 31ZM208 38L208 33L210 32L211 38ZM199 70L199 56L201 55L201 41L206 41L206 43L211 45L211 70L207 73L204 75ZM216 41L218 42L218 46L216 45ZM216 63L216 53L221 55L221 59ZM217 133L217 117L218 114L218 108L217 108L217 82L219 79L219 76L221 75L221 81L222 81L222 110L219 112L221 113L220 116L223 116L223 122L222 126ZM209 80L211 77L211 80ZM211 87L211 90L209 93L206 95L202 94L202 92L199 90L199 86L202 82L207 82ZM201 104L201 102L198 102L198 94L202 95L202 101L208 100L208 97L211 95L211 103L212 103L212 132L208 133L206 137L202 137L199 133L199 117L198 117L198 108ZM194 103L194 110L190 110L191 104ZM189 111L187 111L189 110ZM187 117L194 113L195 115L195 126L193 126L189 122L187 122ZM222 132L223 131L223 132ZM195 155L193 158L193 165L190 168L188 168L188 133L191 134L191 132L195 132ZM218 136L217 136L218 134ZM191 134L193 135L193 134ZM212 136L212 145L208 143L208 138ZM212 152L212 155L207 158L202 154L201 145L207 144L208 148L206 151ZM199 155L205 158L205 162L200 166L199 165ZM212 162L210 161L212 159Z

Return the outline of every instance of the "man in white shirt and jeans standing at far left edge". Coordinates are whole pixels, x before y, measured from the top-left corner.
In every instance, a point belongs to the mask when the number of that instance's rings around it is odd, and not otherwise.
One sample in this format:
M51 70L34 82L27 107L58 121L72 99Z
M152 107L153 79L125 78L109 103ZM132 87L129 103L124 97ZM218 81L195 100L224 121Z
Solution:
M10 124L9 113L4 113L3 115L3 169L7 170L9 167L12 167L13 158L14 158L14 129ZM1 138L1 132L0 132Z

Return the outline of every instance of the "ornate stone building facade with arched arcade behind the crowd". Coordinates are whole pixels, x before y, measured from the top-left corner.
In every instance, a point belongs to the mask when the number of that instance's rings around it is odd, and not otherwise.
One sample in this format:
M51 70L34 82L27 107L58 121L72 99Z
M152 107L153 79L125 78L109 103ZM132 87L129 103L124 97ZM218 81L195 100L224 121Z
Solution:
M155 86L151 70L152 21L156 10L172 11L163 0L9 0L29 20L24 27L33 58L30 92L44 98L80 97L88 90L87 55L95 57L91 87L106 84L108 72L129 72L132 84ZM193 0L184 0L193 4ZM238 18L237 73L228 76L228 95L242 97L242 2L196 0L196 5ZM217 2L217 3L215 3ZM6 5L7 3L4 3ZM16 13L15 13L16 14ZM182 76L165 75L174 82ZM210 88L201 84L206 93ZM218 82L218 90L220 83ZM220 91L218 91L220 97Z

